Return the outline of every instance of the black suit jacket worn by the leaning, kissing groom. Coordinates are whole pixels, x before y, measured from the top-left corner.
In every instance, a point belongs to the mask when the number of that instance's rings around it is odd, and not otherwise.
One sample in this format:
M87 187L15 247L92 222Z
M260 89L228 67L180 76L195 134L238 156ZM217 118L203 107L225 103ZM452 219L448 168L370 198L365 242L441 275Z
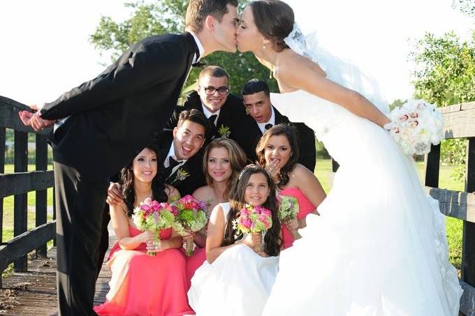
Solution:
M70 116L54 133L54 160L88 179L118 172L166 125L195 52L190 33L145 38L101 75L46 104L43 119Z

